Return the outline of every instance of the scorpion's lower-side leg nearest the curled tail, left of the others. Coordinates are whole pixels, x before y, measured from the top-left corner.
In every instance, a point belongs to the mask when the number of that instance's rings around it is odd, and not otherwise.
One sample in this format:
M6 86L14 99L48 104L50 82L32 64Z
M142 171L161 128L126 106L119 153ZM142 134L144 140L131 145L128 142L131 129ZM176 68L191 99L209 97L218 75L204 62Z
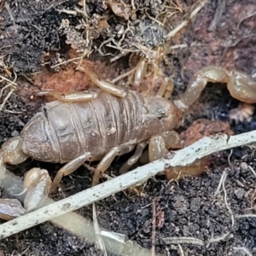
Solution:
M61 167L61 169L57 172L52 182L49 193L52 193L55 191L55 189L57 189L57 187L61 183L61 178L63 176L67 176L72 172L76 171L80 166L84 164L86 160L90 160L90 157L91 157L90 153L81 154L77 158L68 162L65 166Z

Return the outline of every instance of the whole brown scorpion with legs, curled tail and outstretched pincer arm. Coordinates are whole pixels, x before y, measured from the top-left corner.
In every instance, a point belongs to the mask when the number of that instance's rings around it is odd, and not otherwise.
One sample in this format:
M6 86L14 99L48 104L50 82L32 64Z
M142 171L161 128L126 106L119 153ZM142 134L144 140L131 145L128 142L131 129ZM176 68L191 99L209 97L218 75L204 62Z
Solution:
M136 68L136 86L145 73L145 65L147 63L143 60ZM147 145L150 161L164 157L174 144L182 144L174 129L208 82L227 84L230 95L241 102L256 102L256 82L253 79L245 73L229 72L219 66L204 67L195 73L187 89L175 101L164 97L167 80L163 84L164 90L160 90L157 96L144 96L99 79L83 67L79 67L79 71L101 88L99 93L87 91L61 95L57 91L49 91L56 100L46 103L44 110L34 115L19 137L3 143L1 172L6 170L5 164L17 165L28 157L65 165L53 182L46 170L33 168L27 172L24 178L26 211L21 210L19 201L2 199L1 218L15 218L39 207L43 198L59 186L61 178L77 170L85 161L99 161L92 181L96 185L116 156L129 153L134 148L134 154L120 172L127 172Z

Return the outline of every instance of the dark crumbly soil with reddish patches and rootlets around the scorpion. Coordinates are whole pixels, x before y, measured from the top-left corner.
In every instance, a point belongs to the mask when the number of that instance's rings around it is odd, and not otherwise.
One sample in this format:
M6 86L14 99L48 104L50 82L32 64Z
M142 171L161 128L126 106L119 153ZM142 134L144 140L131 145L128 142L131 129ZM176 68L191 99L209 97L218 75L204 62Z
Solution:
M0 1L1 88L9 84L6 79L13 81L17 76L15 92L6 102L3 99L14 87L9 85L1 90L1 144L18 136L44 104L45 98L36 96L38 91L83 90L90 85L90 81L74 71L73 63L59 65L81 54L90 59L83 65L102 79L113 79L129 71L131 54L146 55L156 61L162 73L172 78L175 88L171 99L186 88L194 73L208 65L237 69L255 78L256 5L253 0L209 1L193 20L189 20L189 14L198 3L192 0L135 0L131 1L134 8L125 0L121 9L113 1L105 4L86 1L86 8L84 2ZM173 38L166 38L183 20L189 20L188 26ZM162 53L157 58L154 57L156 49ZM143 80L143 84L147 83L153 90L158 86L152 82L151 69ZM235 118L234 115L231 118L231 113L237 113ZM239 113L248 115L239 120ZM227 122L235 134L256 129L254 108L240 105L231 98L224 84L208 84L177 131L185 131L198 119ZM256 255L256 218L239 217L256 213L255 154L243 147L233 150L230 161L229 155L230 151L214 154L207 171L199 177L170 181L159 176L149 179L137 193L127 190L98 202L100 226L125 234L148 250L154 245L155 254ZM116 170L125 160L127 156L115 160L108 173L117 174ZM52 177L60 168L60 165L26 160L9 169L23 177L32 166L53 170ZM223 172L228 174L224 188L215 195ZM90 188L90 184L91 173L83 166L65 177L61 189L52 196L60 200ZM4 190L2 195L7 196ZM92 218L91 207L78 212ZM0 255L101 253L93 244L45 223L1 240Z

